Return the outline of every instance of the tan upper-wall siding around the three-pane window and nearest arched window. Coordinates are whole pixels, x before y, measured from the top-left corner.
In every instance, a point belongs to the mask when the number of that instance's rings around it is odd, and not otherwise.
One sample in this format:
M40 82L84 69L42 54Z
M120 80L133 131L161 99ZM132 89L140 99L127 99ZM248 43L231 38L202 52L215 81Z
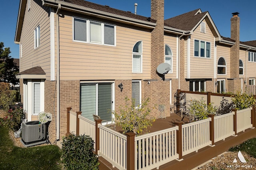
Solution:
M72 16L60 18L60 80L150 78L150 32L116 25L116 47L73 41ZM142 73L132 73L132 49L142 41Z

